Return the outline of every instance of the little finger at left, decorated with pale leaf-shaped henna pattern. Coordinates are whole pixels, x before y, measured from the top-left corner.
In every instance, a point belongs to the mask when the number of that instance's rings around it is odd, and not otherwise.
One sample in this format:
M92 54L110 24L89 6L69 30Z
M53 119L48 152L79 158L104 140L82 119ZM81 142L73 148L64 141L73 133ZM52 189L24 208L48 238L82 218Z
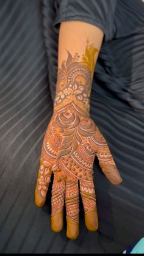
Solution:
M47 161L40 159L40 169L38 171L37 185L35 188L35 204L42 207L46 200L49 182L51 180L51 166Z

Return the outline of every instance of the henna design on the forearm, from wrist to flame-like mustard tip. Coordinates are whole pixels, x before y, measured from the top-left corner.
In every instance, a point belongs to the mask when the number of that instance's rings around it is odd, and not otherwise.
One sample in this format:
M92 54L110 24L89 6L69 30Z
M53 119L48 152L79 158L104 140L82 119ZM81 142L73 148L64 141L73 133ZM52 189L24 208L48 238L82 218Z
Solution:
M67 61L63 61L62 68L58 71L57 92L54 101L56 111L61 106L66 106L72 101L81 106L83 111L89 111L90 89L96 52L98 52L98 49L94 48L93 45L87 44L81 61L78 53L72 57L68 52Z

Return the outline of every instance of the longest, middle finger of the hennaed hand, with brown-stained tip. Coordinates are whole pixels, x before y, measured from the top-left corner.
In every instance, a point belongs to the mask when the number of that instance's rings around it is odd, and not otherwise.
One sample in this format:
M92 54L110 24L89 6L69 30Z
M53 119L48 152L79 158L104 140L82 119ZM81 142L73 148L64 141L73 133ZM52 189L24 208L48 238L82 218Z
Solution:
M65 205L67 210L67 237L74 240L79 235L79 187L78 181L66 181Z

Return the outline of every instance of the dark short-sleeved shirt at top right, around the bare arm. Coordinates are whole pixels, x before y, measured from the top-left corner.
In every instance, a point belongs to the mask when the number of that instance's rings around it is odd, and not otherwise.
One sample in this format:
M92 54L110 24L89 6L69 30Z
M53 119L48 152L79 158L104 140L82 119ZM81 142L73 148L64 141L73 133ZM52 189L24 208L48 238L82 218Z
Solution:
M85 21L104 33L92 90L109 103L144 113L144 1L57 0L62 21Z

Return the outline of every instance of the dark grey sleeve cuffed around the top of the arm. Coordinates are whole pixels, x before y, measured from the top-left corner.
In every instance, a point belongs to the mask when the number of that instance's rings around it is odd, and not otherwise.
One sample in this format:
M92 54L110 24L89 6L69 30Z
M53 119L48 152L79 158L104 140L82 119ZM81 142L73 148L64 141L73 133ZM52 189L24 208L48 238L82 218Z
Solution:
M54 30L62 21L85 21L104 33L104 41L113 38L113 19L117 0L55 0Z

